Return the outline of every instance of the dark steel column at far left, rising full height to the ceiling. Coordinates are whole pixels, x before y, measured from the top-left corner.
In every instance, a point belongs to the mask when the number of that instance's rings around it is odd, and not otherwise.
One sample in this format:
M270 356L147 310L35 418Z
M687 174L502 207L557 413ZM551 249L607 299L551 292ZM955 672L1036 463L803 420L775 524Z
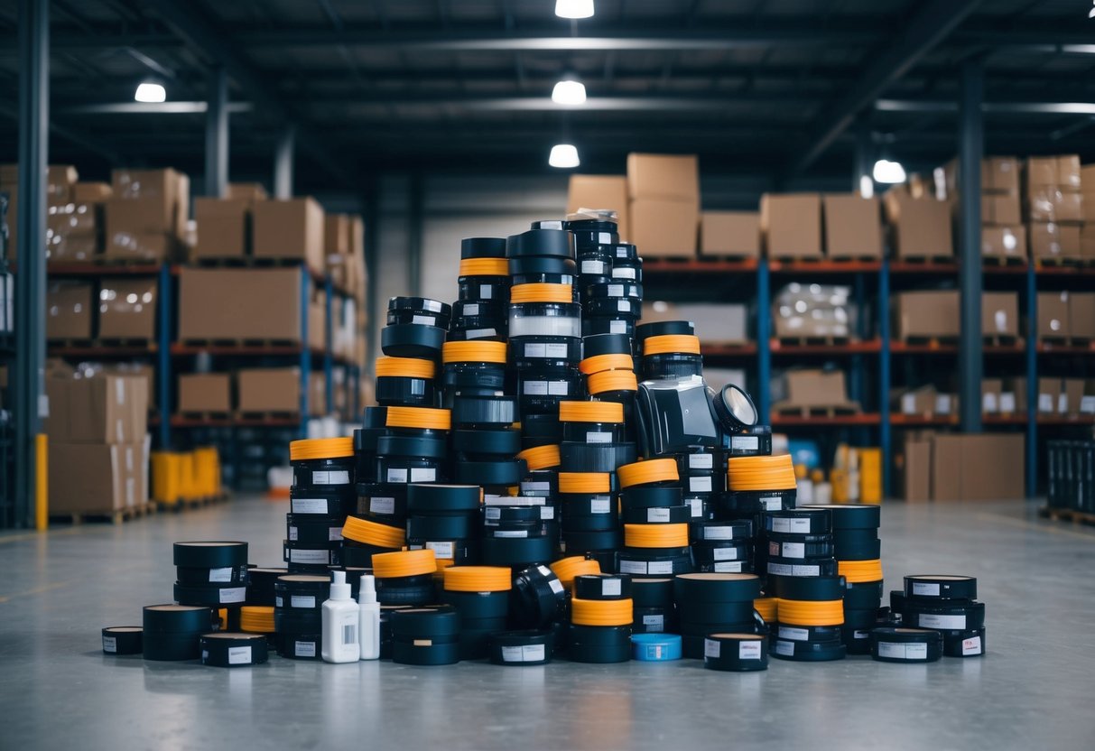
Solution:
M15 273L15 527L34 523L35 440L45 404L49 3L19 2L19 269Z

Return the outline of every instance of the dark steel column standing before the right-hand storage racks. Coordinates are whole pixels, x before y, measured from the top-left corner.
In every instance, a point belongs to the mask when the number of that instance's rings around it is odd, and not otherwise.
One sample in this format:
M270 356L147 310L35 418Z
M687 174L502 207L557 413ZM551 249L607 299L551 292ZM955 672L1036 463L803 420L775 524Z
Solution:
M961 429L981 430L981 158L984 122L981 101L984 68L969 60L961 70L958 117L959 212L958 284L961 290L961 339L958 349L958 406Z

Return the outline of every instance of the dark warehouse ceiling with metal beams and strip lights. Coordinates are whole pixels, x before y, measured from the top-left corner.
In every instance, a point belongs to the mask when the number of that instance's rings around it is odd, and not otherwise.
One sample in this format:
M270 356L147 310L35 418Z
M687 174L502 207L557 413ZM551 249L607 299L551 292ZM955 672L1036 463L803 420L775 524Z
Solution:
M698 152L707 174L846 176L857 141L914 166L956 151L960 72L986 70L986 148L1095 158L1088 0L51 0L51 161L200 173L210 70L231 172L292 125L298 189L381 171L583 170ZM0 159L14 159L15 2L0 2ZM551 101L564 73L588 92ZM155 78L165 105L137 105ZM178 112L165 112L165 109ZM306 169L311 165L315 169ZM93 167L93 169L95 169ZM88 167L84 167L87 171ZM311 183L311 185L309 184Z

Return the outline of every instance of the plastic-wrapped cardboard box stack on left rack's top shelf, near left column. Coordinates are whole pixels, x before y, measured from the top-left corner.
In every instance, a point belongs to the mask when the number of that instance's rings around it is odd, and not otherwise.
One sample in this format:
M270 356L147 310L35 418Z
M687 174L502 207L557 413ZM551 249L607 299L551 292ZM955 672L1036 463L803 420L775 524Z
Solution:
M189 217L189 178L172 169L115 170L111 184L114 197L103 204L103 257L174 261Z

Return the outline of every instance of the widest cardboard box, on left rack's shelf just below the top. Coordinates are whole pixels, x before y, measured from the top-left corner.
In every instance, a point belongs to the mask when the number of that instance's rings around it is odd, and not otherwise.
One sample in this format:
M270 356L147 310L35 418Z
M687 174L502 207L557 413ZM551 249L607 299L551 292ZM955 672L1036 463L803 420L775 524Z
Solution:
M178 338L297 342L299 268L187 268L178 274Z

